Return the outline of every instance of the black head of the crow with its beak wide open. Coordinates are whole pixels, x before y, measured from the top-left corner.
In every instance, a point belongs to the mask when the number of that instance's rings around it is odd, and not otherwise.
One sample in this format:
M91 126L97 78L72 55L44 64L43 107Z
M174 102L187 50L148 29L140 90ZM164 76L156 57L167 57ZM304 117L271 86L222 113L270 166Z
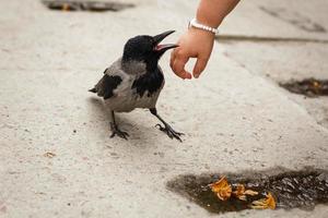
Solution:
M174 31L167 31L156 36L136 36L130 38L124 49L124 61L142 61L145 64L155 64L165 51L177 47L175 44L160 45L160 43Z

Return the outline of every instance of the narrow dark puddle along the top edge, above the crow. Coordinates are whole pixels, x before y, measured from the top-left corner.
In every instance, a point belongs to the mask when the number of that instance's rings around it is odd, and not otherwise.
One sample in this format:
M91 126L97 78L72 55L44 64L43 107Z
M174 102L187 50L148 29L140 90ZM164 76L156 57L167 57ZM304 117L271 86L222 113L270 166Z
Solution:
M120 3L115 1L70 1L70 0L45 0L43 3L50 10L58 11L121 11L127 8L133 8L131 3Z

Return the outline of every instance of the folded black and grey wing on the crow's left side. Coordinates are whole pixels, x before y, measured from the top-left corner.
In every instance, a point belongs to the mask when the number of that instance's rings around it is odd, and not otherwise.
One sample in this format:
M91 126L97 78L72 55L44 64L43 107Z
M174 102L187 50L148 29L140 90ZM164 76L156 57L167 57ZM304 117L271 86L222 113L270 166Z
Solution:
M114 96L114 90L122 82L122 78L124 72L120 69L120 64L115 62L104 71L104 76L90 92L108 99Z

